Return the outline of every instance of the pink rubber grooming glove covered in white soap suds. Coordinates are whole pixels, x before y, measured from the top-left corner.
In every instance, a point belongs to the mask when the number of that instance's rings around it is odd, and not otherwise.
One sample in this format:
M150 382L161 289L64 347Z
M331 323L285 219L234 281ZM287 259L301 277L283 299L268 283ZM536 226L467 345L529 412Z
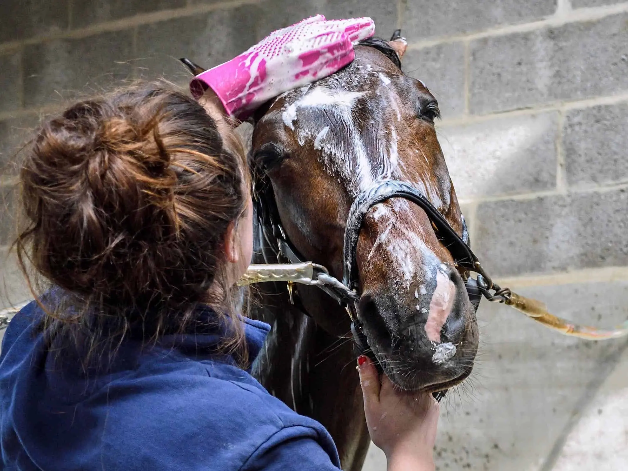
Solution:
M195 98L210 87L232 117L245 119L269 99L327 77L354 60L356 41L375 32L371 18L323 15L278 30L238 57L198 74Z

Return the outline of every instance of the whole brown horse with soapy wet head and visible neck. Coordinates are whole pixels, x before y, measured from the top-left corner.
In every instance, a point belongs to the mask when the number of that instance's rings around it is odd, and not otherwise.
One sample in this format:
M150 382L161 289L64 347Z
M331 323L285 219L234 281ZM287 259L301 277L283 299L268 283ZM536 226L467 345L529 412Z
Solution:
M254 117L249 153L253 263L313 261L345 284L350 271L361 293L352 310L313 286L260 284L248 315L272 328L252 372L320 421L352 471L370 443L353 339L364 338L365 353L398 389L430 393L470 374L479 340L467 269L442 234L444 226L468 244L436 138L438 102L403 73L405 49L399 31L390 41L361 41L344 69L271 100ZM420 196L372 198L391 181ZM347 219L360 198L367 204L347 257Z

